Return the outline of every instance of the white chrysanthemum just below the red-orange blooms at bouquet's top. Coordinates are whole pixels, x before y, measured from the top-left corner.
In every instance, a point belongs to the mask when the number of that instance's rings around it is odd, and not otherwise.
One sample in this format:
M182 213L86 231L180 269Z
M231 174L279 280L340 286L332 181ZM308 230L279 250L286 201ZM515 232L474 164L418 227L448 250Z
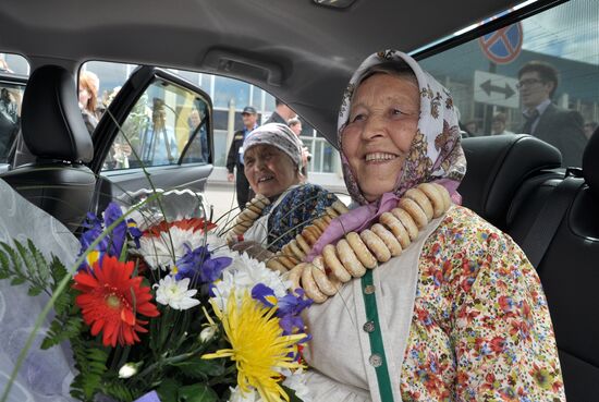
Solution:
M185 245L191 249L204 245L204 235L194 233L191 229L172 227L168 232L161 232L160 236L143 236L138 253L151 269L160 267L164 270L187 253Z

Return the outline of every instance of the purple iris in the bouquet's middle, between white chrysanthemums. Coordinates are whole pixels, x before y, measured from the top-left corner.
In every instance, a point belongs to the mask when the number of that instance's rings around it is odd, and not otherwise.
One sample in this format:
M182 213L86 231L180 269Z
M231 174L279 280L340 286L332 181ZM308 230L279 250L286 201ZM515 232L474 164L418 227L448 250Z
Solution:
M187 253L176 263L176 280L190 278L192 284L197 282L199 277L200 283L212 283L220 278L222 270L233 261L230 257L211 258L208 247L199 246L196 249L191 249L185 245Z

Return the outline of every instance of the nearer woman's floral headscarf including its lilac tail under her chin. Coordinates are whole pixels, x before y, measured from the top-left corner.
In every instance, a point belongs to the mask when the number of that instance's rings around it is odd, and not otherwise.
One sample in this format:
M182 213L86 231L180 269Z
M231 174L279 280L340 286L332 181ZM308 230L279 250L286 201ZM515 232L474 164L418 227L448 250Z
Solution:
M418 127L403 169L398 173L393 192L383 194L378 200L368 203L359 190L341 143L343 130L350 119L354 92L371 69L379 64L396 62L407 65L418 81L420 92L420 115ZM460 112L453 105L450 93L430 74L420 69L409 56L398 50L384 50L369 56L356 70L343 94L339 111L338 143L341 149L343 178L347 191L362 206L334 219L314 245L307 260L318 255L325 245L335 242L349 231L360 231L370 226L381 214L393 209L399 198L411 187L425 182L437 182L451 194L454 203L461 203L456 188L466 173L466 158L461 146L459 127Z

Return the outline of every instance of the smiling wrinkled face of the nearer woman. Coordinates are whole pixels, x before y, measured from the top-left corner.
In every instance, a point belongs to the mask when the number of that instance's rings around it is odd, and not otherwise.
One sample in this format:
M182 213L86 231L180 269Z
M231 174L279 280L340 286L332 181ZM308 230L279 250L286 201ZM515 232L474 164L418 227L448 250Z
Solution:
M407 77L379 73L358 86L341 145L368 202L394 190L419 112L418 87Z

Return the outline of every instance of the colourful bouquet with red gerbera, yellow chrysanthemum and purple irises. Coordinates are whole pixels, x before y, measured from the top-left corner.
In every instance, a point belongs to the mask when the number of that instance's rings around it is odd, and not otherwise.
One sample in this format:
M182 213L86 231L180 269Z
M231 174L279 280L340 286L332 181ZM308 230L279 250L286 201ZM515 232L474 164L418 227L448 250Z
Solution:
M301 290L217 226L164 198L88 214L81 265L70 272L35 244L2 244L0 278L30 294L61 290L41 348L69 341L83 401L308 401ZM75 268L73 269L75 270Z

